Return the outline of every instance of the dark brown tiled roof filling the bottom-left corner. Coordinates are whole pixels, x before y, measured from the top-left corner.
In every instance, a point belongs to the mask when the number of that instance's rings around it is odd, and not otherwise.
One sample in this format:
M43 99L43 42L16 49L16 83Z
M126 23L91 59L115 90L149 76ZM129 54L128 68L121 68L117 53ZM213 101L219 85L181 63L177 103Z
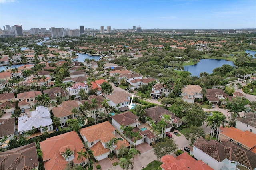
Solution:
M36 143L20 146L0 154L1 170L32 170L38 169L38 166Z

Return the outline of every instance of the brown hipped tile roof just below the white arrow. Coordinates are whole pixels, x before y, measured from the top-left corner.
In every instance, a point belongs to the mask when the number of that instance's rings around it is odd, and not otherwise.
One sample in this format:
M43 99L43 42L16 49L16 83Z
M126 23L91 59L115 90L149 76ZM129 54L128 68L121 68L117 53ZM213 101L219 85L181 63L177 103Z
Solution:
M132 123L138 122L138 117L134 115L132 112L124 112L118 115L111 116L119 125L128 126Z

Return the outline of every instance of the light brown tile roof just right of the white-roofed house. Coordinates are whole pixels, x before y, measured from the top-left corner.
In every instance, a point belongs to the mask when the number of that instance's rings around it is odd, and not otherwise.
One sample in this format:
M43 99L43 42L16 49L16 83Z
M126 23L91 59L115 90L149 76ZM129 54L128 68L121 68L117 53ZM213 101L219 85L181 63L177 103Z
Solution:
M61 103L60 107L52 108L52 113L54 117L58 117L58 118L72 115L71 109L73 107L79 107L79 105L76 103L75 100L64 101Z

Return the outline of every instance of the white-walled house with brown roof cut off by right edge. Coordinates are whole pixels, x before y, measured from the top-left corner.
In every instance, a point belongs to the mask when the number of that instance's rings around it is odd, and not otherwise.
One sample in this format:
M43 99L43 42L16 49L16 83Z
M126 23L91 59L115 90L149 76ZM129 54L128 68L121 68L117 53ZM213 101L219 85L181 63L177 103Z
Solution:
M244 118L236 118L236 128L256 134L256 113L248 112L244 114Z

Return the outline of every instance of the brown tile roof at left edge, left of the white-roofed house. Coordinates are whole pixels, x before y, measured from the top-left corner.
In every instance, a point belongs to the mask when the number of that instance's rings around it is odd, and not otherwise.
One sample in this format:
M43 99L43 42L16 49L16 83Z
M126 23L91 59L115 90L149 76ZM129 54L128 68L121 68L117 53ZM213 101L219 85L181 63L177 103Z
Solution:
M15 118L0 119L0 137L12 135L15 132Z

